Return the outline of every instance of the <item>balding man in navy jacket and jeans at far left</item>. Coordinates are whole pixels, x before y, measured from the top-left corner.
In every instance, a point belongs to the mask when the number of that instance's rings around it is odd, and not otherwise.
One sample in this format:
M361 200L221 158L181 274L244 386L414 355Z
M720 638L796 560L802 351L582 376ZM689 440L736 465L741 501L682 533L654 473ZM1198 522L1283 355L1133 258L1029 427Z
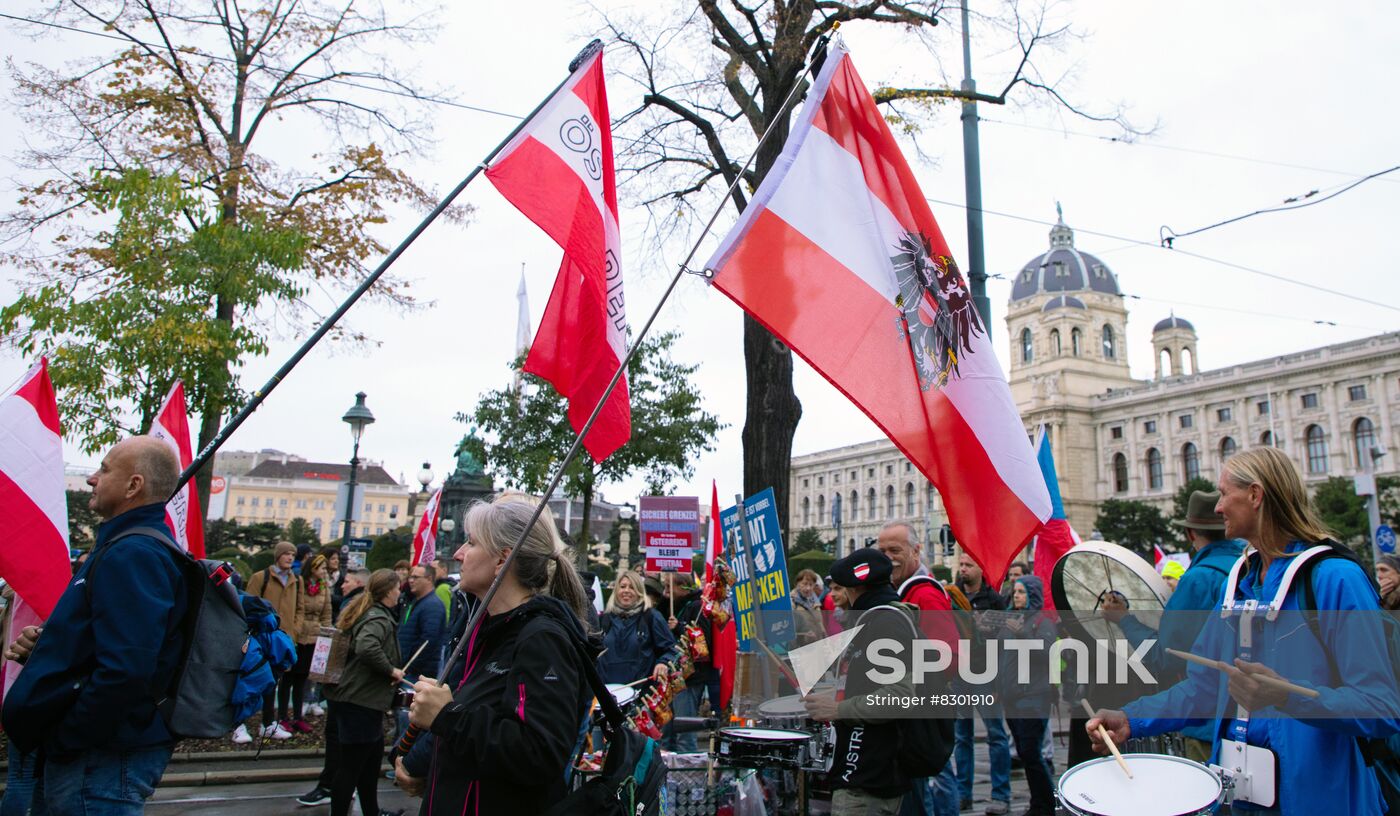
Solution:
M118 442L88 477L102 518L92 556L48 624L6 656L25 669L4 697L4 729L39 749L49 813L140 813L169 761L174 738L157 711L181 656L186 586L165 500L179 462L154 437ZM35 642L35 638L36 642ZM32 651L25 647L32 644Z

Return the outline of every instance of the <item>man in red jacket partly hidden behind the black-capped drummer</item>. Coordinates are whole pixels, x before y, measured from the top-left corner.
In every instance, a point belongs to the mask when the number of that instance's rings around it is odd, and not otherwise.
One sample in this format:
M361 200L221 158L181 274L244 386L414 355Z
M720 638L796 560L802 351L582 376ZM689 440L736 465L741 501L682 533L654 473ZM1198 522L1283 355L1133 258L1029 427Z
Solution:
M918 627L924 637L946 642L956 665L958 621L952 616L952 600L938 578L930 575L920 561L921 547L914 526L902 521L885 525L875 539L875 547L885 553L893 565L889 578L899 592L899 599L918 607ZM958 777L951 761L937 777L914 780L913 789L900 809L900 813L921 816L956 812Z

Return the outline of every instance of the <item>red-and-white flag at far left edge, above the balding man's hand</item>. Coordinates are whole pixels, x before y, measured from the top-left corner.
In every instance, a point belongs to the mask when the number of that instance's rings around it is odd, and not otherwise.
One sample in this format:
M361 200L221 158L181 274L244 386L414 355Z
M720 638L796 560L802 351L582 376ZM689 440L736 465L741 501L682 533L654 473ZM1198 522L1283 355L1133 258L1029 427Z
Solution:
M48 358L0 396L0 577L39 617L49 617L73 571L63 431Z

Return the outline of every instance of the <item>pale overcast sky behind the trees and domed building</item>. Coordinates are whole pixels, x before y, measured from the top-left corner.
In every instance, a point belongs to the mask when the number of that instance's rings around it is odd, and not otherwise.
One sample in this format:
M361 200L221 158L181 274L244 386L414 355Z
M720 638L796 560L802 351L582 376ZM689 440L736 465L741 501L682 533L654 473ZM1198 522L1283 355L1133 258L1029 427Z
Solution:
M977 10L984 0L973 0ZM448 10L431 46L405 59L430 83L462 104L525 113L564 76L570 57L596 31L592 6L542 3L528 21L505 4L462 4ZM610 11L644 11L650 4L599 3ZM1142 6L1078 0L1053 10L1056 20L1084 34L1047 64L1060 87L1089 108L1128 106L1140 125L1159 123L1133 143L1110 126L1077 119L1044 104L981 106L981 175L987 270L997 353L1005 365L1009 277L1044 251L1047 230L1063 203L1077 245L1103 259L1119 276L1128 301L1128 357L1137 377L1152 374L1151 326L1175 311L1200 335L1200 361L1219 368L1400 326L1400 276L1394 262L1394 224L1400 211L1400 172L1361 183L1306 209L1259 216L1158 246L1163 225L1176 232L1212 224L1313 190L1316 200L1362 176L1400 164L1396 140L1400 73L1393 31L1400 7L1390 3L1333 6L1280 3L1231 4L1189 0ZM934 56L924 45L889 31L860 25L843 29L867 83L930 81L935 57L958 71L952 31ZM1007 55L979 50L979 85L1004 83ZM11 21L0 20L0 48L17 59L48 60L105 48L80 34L53 34L34 43ZM1390 55L1390 56L1386 56ZM620 62L620 60L619 60ZM615 113L637 104L637 88L622 78L609 85ZM3 95L11 84L4 78ZM1032 102L1029 95L1018 95ZM419 179L445 190L455 185L514 126L508 116L433 106L426 111L437 146L430 155L405 157ZM13 154L21 125L0 111L6 206L13 206ZM909 154L934 214L966 266L962 137L956 106L932 112L918 136L921 154ZM277 146L287 150L288 146ZM623 190L629 195L629 190ZM318 460L350 453L340 414L354 393L368 393L378 423L364 437L364 456L385 463L407 481L428 460L441 479L465 432L452 420L484 389L508 382L507 360L515 339L515 290L521 265L531 316L539 321L559 266L559 249L512 210L484 179L463 200L476 207L465 227L433 227L399 262L430 308L400 315L358 308L350 325L375 344L314 350L267 403L227 445L277 448ZM395 244L417 223L400 213L379 235ZM734 223L725 211L718 230ZM622 213L627 242L627 295L633 325L655 305L671 270L687 246L643 253L643 214ZM721 238L710 235L700 258ZM0 297L14 295L13 273L0 270ZM1289 279L1289 280L1281 280ZM1341 294L1334 294L1341 293ZM1347 297L1350 295L1350 297ZM333 298L316 304L333 308ZM743 423L741 315L727 298L687 276L661 314L659 325L685 333L676 356L701 364L697 385L710 410L728 423L715 451L696 463L692 481L676 491L708 494L718 479L732 495L741 480L739 432ZM298 344L283 337L267 358L244 371L249 389L266 381ZM25 367L0 351L0 384ZM794 445L806 453L867 441L878 430L820 375L798 364L804 418ZM69 451L70 462L97 456ZM606 498L627 501L638 484L605 487Z

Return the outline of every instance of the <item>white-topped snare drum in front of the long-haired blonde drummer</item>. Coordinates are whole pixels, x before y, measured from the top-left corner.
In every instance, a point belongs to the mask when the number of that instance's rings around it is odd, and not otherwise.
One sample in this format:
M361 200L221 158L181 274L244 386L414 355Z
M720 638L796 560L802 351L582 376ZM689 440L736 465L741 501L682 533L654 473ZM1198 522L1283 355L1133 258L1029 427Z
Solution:
M1175 756L1126 753L1130 780L1113 757L1078 764L1056 788L1074 816L1200 816L1215 813L1225 785L1200 763Z

